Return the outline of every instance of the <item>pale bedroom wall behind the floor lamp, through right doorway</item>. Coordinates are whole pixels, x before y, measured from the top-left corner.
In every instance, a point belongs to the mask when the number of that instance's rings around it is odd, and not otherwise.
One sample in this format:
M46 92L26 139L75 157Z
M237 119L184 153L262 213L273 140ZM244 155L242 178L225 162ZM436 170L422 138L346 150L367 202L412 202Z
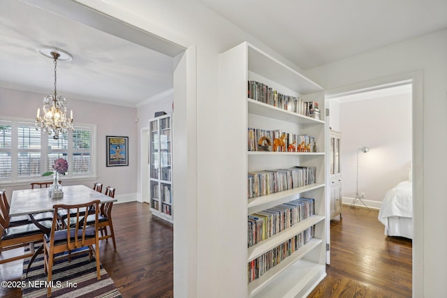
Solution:
M411 94L365 100L341 100L342 195L345 203L365 193L369 207L380 208L383 197L400 181L408 180L411 164Z

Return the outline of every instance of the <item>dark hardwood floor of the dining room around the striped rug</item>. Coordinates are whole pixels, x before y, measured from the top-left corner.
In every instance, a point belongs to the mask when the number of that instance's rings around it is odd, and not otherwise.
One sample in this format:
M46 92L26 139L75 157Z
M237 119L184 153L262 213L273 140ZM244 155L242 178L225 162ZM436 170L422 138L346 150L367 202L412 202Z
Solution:
M101 264L122 296L173 297L173 225L138 202L114 204L112 214L117 250L110 239L100 241ZM0 265L0 281L20 280L22 263ZM22 291L0 288L0 297L22 297Z

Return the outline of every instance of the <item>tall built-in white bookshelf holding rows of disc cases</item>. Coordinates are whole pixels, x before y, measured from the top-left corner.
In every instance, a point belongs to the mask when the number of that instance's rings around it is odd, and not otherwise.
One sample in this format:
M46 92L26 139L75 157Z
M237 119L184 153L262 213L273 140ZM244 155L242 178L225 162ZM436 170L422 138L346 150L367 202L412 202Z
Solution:
M221 282L231 285L228 297L305 297L325 276L325 222L328 218L325 214L324 91L298 71L249 43L223 52L220 64L219 137L228 144L228 147L219 148L218 153L222 154L217 154L221 173L219 189L226 189L226 199L219 202ZM277 102L274 106L249 98L250 81L295 98L289 101L293 107L288 105L285 110ZM320 119L298 114L302 112L295 109L298 99L306 105L307 102L318 105ZM310 135L318 148L311 152L248 151L248 128ZM255 198L247 196L248 173L295 166L316 167L315 183ZM312 216L247 248L249 215L298 198L314 199ZM313 231L309 241L249 281L250 262L263 258L272 248L309 229Z

